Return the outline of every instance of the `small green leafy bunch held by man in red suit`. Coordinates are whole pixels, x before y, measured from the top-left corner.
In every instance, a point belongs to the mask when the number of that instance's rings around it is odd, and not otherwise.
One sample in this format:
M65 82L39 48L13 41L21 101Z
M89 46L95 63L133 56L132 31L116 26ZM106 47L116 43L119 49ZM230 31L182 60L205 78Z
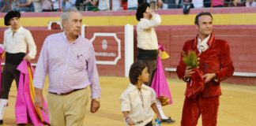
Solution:
M186 66L190 66L191 69L196 69L198 67L198 56L194 50L190 50L188 54L183 52L183 61Z

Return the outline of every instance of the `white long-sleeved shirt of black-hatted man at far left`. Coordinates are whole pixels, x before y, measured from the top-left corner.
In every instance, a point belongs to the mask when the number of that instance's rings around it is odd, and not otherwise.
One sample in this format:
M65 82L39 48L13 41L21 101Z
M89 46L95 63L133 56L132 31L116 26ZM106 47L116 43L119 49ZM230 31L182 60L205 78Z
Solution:
M11 28L5 31L3 46L6 52L10 54L26 53L28 46L28 56L31 58L36 57L34 39L30 31L22 26L16 32L13 32Z

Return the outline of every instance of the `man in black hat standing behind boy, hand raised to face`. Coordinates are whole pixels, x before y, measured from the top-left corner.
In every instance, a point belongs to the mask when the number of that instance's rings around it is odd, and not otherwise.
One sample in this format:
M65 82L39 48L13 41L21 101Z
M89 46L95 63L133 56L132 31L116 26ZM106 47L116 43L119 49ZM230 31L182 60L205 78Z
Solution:
M152 84L152 78L156 72L156 59L158 56L158 42L155 27L161 23L159 14L153 13L149 3L142 3L137 8L137 60L144 61L148 65L149 82L145 83L149 87ZM171 117L164 115L160 102L156 102L157 109L160 112L162 122L173 123Z

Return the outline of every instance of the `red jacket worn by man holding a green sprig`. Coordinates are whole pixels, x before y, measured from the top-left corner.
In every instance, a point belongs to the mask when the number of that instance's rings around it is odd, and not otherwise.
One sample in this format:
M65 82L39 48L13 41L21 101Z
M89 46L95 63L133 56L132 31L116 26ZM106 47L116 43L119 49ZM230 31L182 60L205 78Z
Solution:
M227 79L229 76L232 76L234 72L234 66L232 64L228 42L221 39L215 39L215 36L212 34L209 38L209 41L207 42L209 48L199 54L197 38L198 37L196 37L196 39L187 41L183 46L183 51L186 54L189 52L189 50L194 50L196 52L199 62L198 69L201 70L204 75L206 73L216 73L215 80L211 80L209 83L205 83L204 89L201 91L201 95L204 98L221 95L220 81ZM179 65L177 66L176 70L180 79L183 79L185 71L186 65L183 62L182 53ZM190 84L190 81L187 82L187 84Z

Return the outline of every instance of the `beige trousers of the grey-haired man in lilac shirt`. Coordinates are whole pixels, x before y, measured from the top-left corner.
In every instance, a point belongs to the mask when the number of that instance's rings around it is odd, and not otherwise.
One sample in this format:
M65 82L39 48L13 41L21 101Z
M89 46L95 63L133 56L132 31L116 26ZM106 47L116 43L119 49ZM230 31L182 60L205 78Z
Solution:
M88 89L69 95L47 95L51 126L83 126L88 103Z

